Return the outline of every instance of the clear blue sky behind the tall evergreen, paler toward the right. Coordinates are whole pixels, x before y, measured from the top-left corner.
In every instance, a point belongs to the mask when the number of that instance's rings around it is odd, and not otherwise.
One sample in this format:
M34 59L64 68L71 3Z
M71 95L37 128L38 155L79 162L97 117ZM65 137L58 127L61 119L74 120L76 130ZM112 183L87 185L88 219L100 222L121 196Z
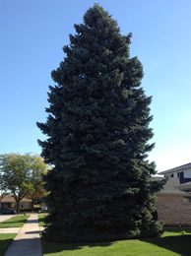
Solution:
M63 59L74 24L92 0L0 1L0 154L40 154L50 72ZM96 0L133 32L131 56L144 66L142 82L153 96L156 142L150 160L158 170L191 161L191 1Z

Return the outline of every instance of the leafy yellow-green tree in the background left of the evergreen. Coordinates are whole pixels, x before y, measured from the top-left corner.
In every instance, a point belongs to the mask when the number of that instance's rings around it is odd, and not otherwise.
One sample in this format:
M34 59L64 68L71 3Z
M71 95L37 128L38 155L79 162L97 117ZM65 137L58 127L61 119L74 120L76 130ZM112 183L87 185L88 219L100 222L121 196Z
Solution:
M46 172L46 164L38 156L32 157L19 154L0 155L0 189L10 193L16 200L17 213L20 212L20 202L42 190L42 174Z

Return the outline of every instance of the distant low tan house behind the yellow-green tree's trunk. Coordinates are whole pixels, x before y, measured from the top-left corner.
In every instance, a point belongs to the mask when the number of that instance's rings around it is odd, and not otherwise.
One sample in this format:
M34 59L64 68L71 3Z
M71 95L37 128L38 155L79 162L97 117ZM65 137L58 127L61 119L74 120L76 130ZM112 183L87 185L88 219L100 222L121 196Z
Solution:
M0 208L11 208L16 209L16 201L14 197L3 197L0 198ZM20 202L21 210L32 209L32 199L23 198Z

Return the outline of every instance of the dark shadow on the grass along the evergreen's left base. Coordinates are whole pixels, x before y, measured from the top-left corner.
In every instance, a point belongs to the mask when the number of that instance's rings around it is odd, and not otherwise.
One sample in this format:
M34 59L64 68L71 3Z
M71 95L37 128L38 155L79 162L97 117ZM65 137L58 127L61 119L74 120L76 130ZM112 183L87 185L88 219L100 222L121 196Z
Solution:
M112 242L87 242L87 243L54 243L54 242L46 242L41 239L43 252L44 253L56 253L67 250L81 250L83 247L105 247L112 244Z

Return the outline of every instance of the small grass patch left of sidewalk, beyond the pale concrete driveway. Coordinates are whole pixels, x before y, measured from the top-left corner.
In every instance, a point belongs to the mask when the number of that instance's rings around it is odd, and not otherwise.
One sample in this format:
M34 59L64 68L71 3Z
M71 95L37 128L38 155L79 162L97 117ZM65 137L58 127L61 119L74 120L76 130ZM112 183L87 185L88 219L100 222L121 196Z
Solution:
M5 227L22 227L30 216L15 216L7 221L0 223L0 228Z

